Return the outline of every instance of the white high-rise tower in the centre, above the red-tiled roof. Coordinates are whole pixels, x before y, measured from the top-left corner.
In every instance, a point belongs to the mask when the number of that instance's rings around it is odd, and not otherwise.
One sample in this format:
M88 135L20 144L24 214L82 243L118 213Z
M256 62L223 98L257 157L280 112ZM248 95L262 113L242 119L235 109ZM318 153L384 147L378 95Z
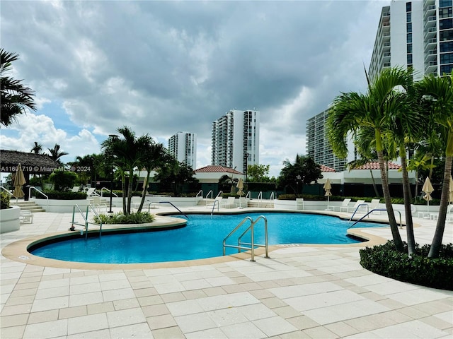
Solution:
M232 109L212 123L212 165L246 173L259 164L260 112Z

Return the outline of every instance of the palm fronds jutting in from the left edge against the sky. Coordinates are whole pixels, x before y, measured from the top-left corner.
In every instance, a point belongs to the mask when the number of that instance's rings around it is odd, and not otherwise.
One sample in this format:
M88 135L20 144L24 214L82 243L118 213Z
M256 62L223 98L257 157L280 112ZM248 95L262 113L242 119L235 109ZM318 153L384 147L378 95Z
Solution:
M23 85L22 80L15 80L6 76L6 73L11 71L11 63L18 59L18 54L8 53L3 48L0 49L0 124L4 126L9 126L16 121L17 115L25 113L26 109L36 110L33 90Z

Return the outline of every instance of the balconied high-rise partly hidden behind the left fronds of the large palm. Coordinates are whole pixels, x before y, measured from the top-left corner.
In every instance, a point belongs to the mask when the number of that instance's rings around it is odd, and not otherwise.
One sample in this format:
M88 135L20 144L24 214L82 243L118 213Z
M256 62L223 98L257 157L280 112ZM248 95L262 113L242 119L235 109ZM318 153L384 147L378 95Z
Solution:
M333 154L327 137L327 116L328 109L306 121L306 155L313 157L317 164L331 167L340 172L345 169L348 159L340 159Z

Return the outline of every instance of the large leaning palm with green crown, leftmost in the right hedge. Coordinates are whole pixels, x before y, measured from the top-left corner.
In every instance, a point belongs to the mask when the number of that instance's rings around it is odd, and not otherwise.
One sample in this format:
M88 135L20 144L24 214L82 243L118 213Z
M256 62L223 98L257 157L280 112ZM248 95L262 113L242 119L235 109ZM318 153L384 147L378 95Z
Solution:
M328 116L328 138L333 152L338 157L346 157L348 154L345 138L349 133L356 134L363 127L372 129L379 160L384 201L397 251L403 251L403 242L391 205L384 161L383 137L389 130L389 112L400 111L406 107L403 94L395 90L398 85L406 83L406 77L406 71L402 69L386 69L374 81L368 80L366 95L352 92L342 93L336 97Z

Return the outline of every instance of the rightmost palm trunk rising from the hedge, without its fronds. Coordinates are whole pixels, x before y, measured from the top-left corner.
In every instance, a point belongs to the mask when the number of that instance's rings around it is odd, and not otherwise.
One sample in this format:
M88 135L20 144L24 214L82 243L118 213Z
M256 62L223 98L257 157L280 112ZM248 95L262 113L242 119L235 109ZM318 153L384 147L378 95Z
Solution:
M453 149L453 137L449 138L449 144L450 149ZM428 253L428 258L437 258L439 256L440 248L442 246L442 239L444 237L445 230L445 220L447 219L449 183L451 175L450 173L452 172L452 160L453 160L452 155L445 157L444 182L442 184L442 195L440 196L439 217L437 218L436 230L434 233L434 237L432 238L432 244L430 247L430 252Z

